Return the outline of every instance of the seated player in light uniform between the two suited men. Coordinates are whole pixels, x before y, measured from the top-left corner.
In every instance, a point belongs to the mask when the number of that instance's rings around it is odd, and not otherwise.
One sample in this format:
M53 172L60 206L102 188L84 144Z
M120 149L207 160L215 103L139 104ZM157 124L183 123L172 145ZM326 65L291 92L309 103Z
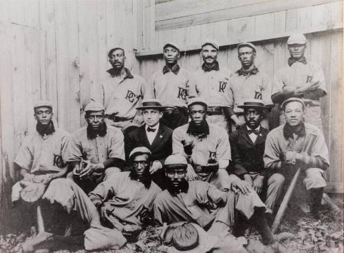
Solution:
M173 131L173 154L182 154L188 160L189 180L203 180L228 191L231 182L226 171L230 161L228 134L224 128L208 125L204 99L190 99L188 107L191 121ZM195 176L190 173L193 170Z

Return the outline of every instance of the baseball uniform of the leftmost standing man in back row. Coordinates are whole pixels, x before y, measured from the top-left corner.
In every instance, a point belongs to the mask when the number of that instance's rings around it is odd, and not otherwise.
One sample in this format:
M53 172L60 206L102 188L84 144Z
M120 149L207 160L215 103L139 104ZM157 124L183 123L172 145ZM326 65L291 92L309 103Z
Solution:
M114 69L109 69L100 87L91 93L92 100L104 105L107 123L118 128L125 128L133 121L147 85L142 77L133 75L129 69L125 72L125 77L116 79Z

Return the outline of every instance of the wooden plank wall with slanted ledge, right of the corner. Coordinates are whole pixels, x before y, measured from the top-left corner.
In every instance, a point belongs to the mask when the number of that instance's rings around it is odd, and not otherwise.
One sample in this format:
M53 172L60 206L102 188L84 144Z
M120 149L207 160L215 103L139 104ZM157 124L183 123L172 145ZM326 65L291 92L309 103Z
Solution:
M240 66L237 43L254 41L257 67L273 77L289 56L287 36L293 32L305 33L308 38L305 55L323 67L328 91L321 105L324 134L331 157L327 191L343 193L343 149L339 141L342 139L343 122L343 106L340 104L343 101L343 1L172 0L144 8L146 12L155 8L155 43L136 54L140 58L140 74L146 80L154 71L162 69L162 46L169 40L182 47L182 67L190 71L200 67L200 43L204 38L215 38L222 46L219 64L227 65L231 71ZM226 9L226 14L219 15L220 9ZM236 18L237 15L241 17ZM205 18L199 19L200 16L206 16L207 22L203 22ZM225 20L217 21L219 17ZM193 23L186 22L189 20Z

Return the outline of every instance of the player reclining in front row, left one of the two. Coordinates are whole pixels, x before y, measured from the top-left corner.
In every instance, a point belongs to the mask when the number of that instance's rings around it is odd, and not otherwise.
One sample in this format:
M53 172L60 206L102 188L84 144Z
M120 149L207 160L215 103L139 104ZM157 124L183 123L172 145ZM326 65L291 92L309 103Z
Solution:
M54 180L42 199L65 214L65 219L76 217L87 224L85 232L75 236L63 236L42 232L39 237L25 242L24 252L37 248L50 248L54 242L76 243L83 239L86 250L122 248L127 239L135 237L143 226L151 223L149 216L153 201L161 192L149 173L151 152L146 147L136 147L129 155L131 171L112 175L89 193L72 180Z

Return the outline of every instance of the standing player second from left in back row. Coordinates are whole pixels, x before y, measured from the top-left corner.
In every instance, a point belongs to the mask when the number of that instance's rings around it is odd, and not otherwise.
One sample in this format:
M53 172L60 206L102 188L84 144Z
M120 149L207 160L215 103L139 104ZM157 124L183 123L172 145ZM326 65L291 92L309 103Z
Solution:
M145 99L156 98L165 106L162 123L175 129L188 123L186 107L190 97L195 97L195 85L191 73L178 65L180 47L175 43L167 43L163 47L166 65L162 71L155 72L149 82ZM193 88L193 89L192 89Z

